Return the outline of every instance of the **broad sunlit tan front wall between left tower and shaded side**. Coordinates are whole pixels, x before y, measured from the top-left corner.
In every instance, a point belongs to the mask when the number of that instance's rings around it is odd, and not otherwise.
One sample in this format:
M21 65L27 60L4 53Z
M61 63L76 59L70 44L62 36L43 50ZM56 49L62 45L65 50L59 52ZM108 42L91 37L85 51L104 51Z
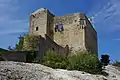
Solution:
M63 24L64 31L54 31L54 41L61 46L69 45L72 50L84 48L84 29L79 24L80 14L74 13L54 18L54 27L56 24Z

